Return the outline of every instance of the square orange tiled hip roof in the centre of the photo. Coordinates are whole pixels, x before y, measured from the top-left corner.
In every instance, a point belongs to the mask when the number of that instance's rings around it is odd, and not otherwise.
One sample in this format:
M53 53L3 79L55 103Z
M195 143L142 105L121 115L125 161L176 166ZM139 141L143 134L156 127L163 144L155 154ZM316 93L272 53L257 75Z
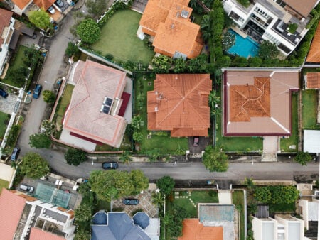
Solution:
M212 89L208 74L156 75L147 93L148 129L171 136L208 136Z

